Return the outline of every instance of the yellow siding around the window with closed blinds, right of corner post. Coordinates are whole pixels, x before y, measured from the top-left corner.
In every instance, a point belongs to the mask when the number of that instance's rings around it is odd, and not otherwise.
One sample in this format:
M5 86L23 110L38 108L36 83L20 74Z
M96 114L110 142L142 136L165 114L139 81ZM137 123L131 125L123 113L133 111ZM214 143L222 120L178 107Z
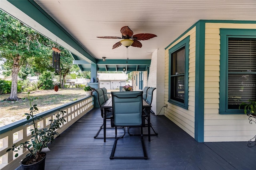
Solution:
M248 141L255 135L246 115L220 115L220 28L256 29L256 24L206 23L204 142Z

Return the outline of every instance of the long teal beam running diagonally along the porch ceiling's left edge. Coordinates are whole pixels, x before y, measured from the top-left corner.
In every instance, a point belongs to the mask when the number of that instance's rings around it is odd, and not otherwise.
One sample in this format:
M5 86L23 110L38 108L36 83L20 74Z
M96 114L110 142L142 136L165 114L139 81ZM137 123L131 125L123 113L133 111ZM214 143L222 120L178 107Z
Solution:
M52 34L58 36L61 40L68 43L79 53L84 55L90 63L96 63L96 59L90 55L64 28L62 28L51 16L49 16L36 2L33 0L8 0L16 8L20 9L30 18L44 26Z

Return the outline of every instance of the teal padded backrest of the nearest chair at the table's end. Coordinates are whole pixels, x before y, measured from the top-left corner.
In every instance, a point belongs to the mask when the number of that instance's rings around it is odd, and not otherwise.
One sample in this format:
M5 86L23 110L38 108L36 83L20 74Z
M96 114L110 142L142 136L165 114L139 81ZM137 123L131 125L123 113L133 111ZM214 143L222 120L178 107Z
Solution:
M142 125L142 91L111 92L114 127Z

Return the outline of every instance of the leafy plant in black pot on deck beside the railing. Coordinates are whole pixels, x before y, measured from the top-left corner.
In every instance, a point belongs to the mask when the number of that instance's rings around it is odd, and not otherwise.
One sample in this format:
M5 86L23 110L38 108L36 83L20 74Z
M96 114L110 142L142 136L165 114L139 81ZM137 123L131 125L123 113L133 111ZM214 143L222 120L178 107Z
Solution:
M42 149L47 148L47 144L49 142L52 143L54 141L54 137L59 135L58 132L56 132L56 130L60 129L60 125L66 122L66 120L63 117L66 111L60 111L60 113L56 115L56 119L49 120L49 127L38 128L36 120L41 119L41 117L35 115L35 113L38 111L38 108L36 107L37 105L32 106L33 99L30 99L29 94L30 92L28 92L28 100L30 102L30 113L25 113L25 115L27 116L27 120L29 120L30 118L32 119L31 124L33 129L30 129L32 140L20 144L13 144L12 148L9 148L8 150L6 150L6 152L9 152L11 150L17 152L15 154L15 157L18 157L18 150L22 148L27 148L29 154L27 154L26 158L22 160L22 168L24 170L44 170L46 153L42 152Z

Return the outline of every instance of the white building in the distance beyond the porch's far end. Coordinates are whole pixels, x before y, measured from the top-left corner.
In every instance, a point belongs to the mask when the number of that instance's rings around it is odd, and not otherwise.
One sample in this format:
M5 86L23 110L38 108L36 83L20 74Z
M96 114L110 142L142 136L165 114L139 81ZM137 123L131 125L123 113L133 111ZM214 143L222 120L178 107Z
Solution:
M125 73L98 73L100 88L119 89L120 86L125 86L128 75Z

